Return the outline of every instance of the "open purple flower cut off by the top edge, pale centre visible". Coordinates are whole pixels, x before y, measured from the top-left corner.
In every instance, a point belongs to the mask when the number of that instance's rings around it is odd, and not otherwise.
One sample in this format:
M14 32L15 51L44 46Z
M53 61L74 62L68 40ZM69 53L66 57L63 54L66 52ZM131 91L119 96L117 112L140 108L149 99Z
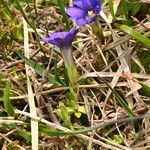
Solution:
M101 10L100 5L100 0L74 0L73 6L69 7L66 13L71 20L76 20L77 25L83 26L96 18Z

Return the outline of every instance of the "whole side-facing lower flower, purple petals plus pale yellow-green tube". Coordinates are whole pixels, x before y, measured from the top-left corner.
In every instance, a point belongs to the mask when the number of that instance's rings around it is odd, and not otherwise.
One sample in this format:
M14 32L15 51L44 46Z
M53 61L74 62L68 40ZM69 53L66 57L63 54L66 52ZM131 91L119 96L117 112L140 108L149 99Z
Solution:
M42 41L46 43L50 43L59 47L71 85L78 81L78 74L73 60L72 51L72 40L77 34L77 31L78 30L73 27L69 32L54 32L49 37L42 39Z

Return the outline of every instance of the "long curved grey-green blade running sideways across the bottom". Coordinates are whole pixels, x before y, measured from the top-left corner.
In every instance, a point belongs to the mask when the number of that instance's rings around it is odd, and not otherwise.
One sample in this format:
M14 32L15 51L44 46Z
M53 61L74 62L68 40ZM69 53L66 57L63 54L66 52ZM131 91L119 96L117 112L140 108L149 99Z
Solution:
M140 115L140 116L128 117L128 118L124 118L124 119L111 120L111 121L108 121L108 122L99 123L99 124L94 125L92 127L86 127L84 129L69 130L69 131L50 130L49 126L39 122L39 131L40 131L40 133L42 133L42 134L44 133L44 134L49 135L49 136L65 136L65 135L85 134L85 133L91 132L91 131L96 130L96 129L101 129L101 128L105 128L107 126L111 126L115 123L123 124L123 123L142 120L142 119L146 119L146 118L150 118L150 115ZM30 127L29 123L13 123L13 124L10 124L8 122L6 124L6 123L1 123L0 122L0 125L4 126L4 127L7 127L9 129L17 129L16 132L19 136L22 136L27 142L31 141L30 133L28 131L26 131L26 128ZM20 125L21 126L24 125L26 127L23 132L21 132L22 127L20 127ZM25 134L25 132L26 132L26 134ZM25 135L22 135L22 134L25 134Z

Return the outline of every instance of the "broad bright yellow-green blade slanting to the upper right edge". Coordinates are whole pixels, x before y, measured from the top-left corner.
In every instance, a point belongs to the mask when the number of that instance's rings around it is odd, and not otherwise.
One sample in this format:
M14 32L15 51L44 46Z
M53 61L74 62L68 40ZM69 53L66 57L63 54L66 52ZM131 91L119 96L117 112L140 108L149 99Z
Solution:
M128 27L127 25L120 25L120 24L116 24L116 26L123 30L124 32L130 34L133 38L139 40L140 42L142 42L143 44L147 45L150 47L150 39L148 39L147 37L145 37L144 35L140 34L139 32L133 30L132 28Z

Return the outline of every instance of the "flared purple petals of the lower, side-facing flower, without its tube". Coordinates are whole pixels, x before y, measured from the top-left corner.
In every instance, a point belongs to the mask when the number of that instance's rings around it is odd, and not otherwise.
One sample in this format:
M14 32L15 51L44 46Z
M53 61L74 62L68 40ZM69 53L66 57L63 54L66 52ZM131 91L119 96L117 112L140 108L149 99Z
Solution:
M60 50L71 47L72 40L77 33L77 29L74 27L69 32L54 32L49 37L45 37L42 41L56 45Z

